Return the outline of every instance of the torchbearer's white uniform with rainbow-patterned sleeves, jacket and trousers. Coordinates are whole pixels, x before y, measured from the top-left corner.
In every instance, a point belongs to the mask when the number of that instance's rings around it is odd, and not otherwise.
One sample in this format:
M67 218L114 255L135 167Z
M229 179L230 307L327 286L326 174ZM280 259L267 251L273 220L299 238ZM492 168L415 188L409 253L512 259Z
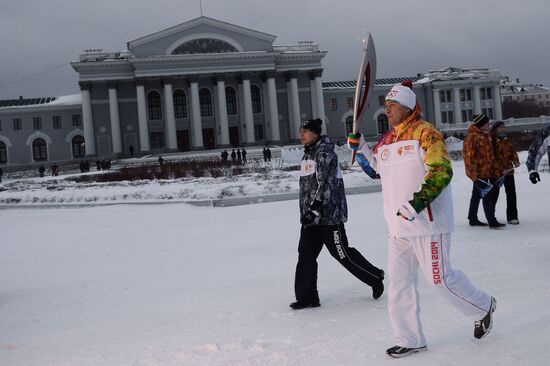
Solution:
M491 296L450 262L454 229L451 162L441 133L421 120L420 106L371 148L361 137L357 161L380 175L389 229L388 310L397 345L424 348L417 290L418 268L455 308L472 320L491 310ZM351 137L350 137L351 140ZM350 142L351 147L351 142ZM412 221L398 212L403 207Z

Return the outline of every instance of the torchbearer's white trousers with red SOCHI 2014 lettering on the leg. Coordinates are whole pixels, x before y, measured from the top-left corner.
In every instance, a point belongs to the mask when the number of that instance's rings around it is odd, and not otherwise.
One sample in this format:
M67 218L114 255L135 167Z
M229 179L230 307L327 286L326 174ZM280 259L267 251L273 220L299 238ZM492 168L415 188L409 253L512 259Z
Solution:
M426 345L420 323L419 266L428 282L472 321L482 319L489 311L491 296L451 267L450 249L451 234L390 237L388 310L398 346Z

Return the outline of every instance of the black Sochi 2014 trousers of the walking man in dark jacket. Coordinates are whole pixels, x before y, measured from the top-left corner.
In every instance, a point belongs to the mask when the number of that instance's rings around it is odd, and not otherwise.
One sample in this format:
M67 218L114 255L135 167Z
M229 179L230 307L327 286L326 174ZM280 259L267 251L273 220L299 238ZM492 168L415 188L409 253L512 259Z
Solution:
M382 270L373 266L357 249L349 246L344 224L308 227L302 225L294 281L296 300L319 301L317 257L323 249L323 244L340 264L367 285L372 287L381 280Z

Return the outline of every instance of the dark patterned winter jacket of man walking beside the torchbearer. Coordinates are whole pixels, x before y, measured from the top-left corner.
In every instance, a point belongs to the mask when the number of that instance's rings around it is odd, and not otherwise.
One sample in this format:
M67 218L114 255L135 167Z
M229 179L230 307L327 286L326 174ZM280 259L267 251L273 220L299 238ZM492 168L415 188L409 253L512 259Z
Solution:
M337 225L348 219L344 180L334 152L334 143L327 137L304 149L300 173L300 215L314 201L321 202L315 225Z

